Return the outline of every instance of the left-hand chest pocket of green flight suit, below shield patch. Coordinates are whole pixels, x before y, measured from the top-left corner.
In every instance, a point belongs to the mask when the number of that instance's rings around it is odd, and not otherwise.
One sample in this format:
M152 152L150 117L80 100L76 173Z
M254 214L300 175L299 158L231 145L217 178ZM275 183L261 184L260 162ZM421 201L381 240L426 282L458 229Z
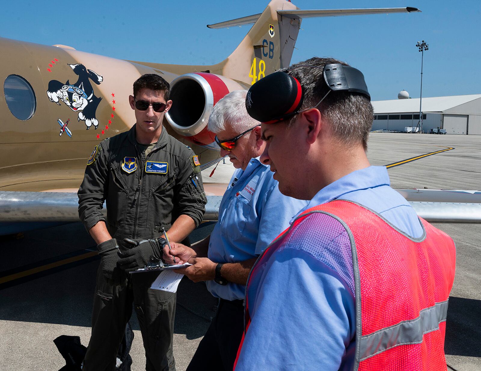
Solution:
M119 174L114 164L110 167L106 201L107 221L118 226L127 210L128 192L125 180L122 179L122 175Z

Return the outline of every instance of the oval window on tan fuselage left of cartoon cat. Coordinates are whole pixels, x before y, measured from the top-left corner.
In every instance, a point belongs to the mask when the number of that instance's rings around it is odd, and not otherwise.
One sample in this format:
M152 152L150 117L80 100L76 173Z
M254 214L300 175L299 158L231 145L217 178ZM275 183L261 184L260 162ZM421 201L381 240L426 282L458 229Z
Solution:
M13 116L19 120L28 120L35 113L37 99L32 86L23 77L11 74L3 84L5 100Z

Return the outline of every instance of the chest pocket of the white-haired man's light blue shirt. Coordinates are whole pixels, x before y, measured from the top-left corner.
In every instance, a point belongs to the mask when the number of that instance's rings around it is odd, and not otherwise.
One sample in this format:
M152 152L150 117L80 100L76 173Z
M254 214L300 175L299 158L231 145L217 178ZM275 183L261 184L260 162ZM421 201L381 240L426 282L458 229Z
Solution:
M232 241L241 238L251 209L249 200L242 194L233 197L222 220L222 233Z

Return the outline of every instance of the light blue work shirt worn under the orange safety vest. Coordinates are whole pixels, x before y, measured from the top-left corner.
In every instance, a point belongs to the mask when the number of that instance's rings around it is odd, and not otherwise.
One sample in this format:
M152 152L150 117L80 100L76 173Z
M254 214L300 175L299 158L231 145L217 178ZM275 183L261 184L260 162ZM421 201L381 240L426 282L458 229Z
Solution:
M321 189L298 214L346 199L376 211L407 235L421 237L424 228L416 212L389 185L384 166L357 170ZM339 226L326 214L311 214L251 277L251 324L236 371L352 370L354 275L349 238L343 227L336 230ZM316 255L318 251L322 253Z

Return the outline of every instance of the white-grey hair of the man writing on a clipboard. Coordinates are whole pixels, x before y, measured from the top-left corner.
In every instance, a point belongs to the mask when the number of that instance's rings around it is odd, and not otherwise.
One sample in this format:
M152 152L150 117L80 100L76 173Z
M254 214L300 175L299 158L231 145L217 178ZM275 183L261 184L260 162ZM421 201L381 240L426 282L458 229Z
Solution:
M214 134L226 129L228 125L236 133L242 132L260 124L254 120L245 108L247 90L236 90L220 99L214 106L207 128Z

